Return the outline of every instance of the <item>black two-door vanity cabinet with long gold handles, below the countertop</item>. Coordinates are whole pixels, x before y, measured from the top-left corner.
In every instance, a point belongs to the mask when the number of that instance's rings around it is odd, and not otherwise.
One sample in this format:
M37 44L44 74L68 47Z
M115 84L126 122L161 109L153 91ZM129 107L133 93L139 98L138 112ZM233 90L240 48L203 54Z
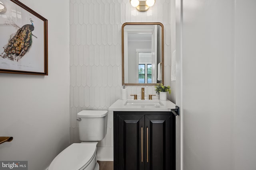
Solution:
M175 116L114 111L114 170L175 170Z

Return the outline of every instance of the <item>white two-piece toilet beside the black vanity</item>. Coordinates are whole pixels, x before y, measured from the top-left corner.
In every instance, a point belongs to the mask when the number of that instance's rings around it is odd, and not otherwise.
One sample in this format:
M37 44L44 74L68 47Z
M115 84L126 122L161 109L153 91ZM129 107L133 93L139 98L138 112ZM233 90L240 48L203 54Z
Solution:
M107 114L106 110L83 110L77 113L82 143L73 143L60 152L48 170L99 170L96 145L106 135Z

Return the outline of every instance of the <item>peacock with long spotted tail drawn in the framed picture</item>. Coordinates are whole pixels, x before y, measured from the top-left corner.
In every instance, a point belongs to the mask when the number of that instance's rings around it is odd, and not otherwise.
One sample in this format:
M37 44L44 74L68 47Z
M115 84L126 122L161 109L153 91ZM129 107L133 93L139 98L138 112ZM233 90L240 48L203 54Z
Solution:
M3 47L4 52L0 54L0 57L18 61L29 51L32 45L32 31L34 30L34 24L31 18L30 22L31 24L23 25L21 28L15 23L10 24L19 29L16 33L10 35L8 44Z

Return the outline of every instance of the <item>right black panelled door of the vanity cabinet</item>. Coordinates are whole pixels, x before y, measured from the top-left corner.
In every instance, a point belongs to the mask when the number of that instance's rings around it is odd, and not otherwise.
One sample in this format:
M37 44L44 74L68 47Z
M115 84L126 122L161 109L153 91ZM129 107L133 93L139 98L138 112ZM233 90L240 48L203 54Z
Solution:
M145 170L175 170L175 117L145 115Z

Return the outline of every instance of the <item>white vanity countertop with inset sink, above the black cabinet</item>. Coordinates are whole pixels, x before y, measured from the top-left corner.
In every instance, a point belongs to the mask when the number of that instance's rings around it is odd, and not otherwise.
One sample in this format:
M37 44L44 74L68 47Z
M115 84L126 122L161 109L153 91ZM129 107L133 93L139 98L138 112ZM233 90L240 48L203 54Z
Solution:
M170 111L170 109L175 109L175 104L172 103L170 100L148 100L148 99L146 100L118 99L116 102L114 102L114 104L108 107L109 111Z

